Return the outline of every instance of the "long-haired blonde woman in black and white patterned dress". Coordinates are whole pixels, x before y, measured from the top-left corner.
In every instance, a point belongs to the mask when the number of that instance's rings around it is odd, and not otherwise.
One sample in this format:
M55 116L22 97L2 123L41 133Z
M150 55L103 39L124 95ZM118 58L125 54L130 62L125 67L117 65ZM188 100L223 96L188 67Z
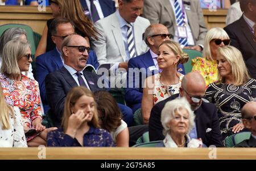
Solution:
M241 52L233 46L218 48L218 82L210 84L205 95L218 108L222 138L240 132L241 109L256 99L256 80L251 79Z

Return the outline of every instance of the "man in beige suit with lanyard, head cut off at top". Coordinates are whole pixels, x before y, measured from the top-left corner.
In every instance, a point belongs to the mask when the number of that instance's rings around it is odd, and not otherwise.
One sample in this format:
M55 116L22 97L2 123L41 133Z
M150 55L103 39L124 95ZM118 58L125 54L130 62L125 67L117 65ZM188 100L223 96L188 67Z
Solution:
M175 16L175 3L179 3L181 14L184 16L184 33L178 29ZM145 0L143 16L150 20L150 23L161 23L166 25L169 33L174 35L174 41L179 42L183 35L187 37L187 49L203 50L204 38L207 28L204 23L203 12L198 0ZM178 31L179 30L179 31ZM187 36L186 36L187 35Z

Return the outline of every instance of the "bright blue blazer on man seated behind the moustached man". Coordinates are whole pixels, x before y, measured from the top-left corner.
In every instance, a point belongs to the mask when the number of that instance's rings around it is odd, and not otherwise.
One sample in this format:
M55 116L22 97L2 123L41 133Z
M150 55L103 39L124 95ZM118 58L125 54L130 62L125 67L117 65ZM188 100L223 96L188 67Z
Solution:
M49 106L46 99L46 85L45 79L46 75L63 67L63 62L61 61L60 54L57 52L56 48L50 50L47 53L39 55L36 58L36 80L39 84L40 96L43 102L44 111L47 113ZM96 53L91 50L87 62L93 65L96 69L99 66L97 61Z

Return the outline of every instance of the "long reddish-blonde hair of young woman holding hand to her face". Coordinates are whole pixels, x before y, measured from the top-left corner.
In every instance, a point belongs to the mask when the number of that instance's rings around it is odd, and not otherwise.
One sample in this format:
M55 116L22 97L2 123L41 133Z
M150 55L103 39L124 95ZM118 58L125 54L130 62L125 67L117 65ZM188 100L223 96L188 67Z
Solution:
M71 116L71 107L74 106L77 102L77 100L80 99L81 96L89 96L93 97L93 93L85 87L73 87L67 95L67 98L65 100L65 105L64 105L64 114L61 122L61 126L63 127L64 132L68 128L68 119ZM100 125L98 123L98 112L97 112L97 105L94 100L94 112L93 112L93 118L92 121L88 122L89 125L93 125L94 127L100 128Z

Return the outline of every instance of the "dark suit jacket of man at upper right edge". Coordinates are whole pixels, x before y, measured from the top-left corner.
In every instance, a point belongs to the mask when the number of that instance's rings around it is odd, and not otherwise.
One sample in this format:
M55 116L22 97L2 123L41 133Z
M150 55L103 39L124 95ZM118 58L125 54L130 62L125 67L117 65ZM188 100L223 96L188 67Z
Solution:
M241 51L245 62L255 55L256 42L253 41L253 33L251 33L243 16L236 22L224 27L224 30L231 39L230 45L235 46Z

